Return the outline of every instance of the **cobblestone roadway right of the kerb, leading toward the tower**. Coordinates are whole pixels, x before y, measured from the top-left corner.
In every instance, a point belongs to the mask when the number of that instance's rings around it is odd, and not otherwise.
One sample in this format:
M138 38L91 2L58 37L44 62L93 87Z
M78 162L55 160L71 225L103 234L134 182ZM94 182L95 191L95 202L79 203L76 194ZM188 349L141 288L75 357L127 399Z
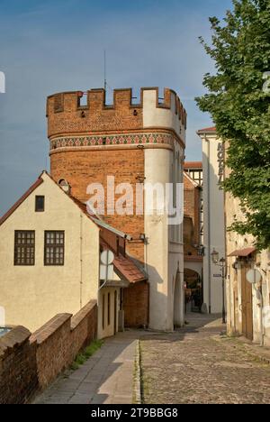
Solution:
M267 403L270 365L209 316L140 340L144 403Z

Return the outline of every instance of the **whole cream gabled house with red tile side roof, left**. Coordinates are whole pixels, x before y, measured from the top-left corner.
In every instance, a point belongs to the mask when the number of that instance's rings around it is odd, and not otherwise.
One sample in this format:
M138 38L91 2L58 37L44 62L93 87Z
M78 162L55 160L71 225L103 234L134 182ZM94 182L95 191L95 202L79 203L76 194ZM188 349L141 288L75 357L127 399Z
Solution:
M98 336L122 320L123 289L145 275L125 254L126 234L87 214L86 206L43 172L0 220L0 307L6 326L35 331L58 313L98 302ZM112 280L100 280L100 252L114 253Z

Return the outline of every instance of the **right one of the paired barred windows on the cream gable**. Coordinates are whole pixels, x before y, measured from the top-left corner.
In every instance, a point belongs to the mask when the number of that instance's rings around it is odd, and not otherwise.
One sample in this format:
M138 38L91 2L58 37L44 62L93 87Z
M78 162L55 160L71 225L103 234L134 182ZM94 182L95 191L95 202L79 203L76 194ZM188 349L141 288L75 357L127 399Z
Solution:
M65 232L45 232L45 265L64 265Z

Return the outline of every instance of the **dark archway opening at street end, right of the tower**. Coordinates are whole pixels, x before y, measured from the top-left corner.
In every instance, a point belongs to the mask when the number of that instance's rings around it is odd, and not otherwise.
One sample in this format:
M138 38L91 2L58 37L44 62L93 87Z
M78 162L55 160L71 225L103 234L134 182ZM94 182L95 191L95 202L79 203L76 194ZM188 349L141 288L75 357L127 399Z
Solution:
M184 268L185 312L201 312L202 279L197 271Z

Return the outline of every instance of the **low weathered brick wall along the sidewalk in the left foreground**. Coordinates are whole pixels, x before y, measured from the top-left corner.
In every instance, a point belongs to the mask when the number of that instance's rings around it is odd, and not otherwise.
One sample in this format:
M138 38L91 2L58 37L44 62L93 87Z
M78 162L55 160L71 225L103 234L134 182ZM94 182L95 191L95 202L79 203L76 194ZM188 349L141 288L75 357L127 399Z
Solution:
M16 327L0 338L0 404L23 404L46 388L96 338L97 306L59 314L31 335Z

